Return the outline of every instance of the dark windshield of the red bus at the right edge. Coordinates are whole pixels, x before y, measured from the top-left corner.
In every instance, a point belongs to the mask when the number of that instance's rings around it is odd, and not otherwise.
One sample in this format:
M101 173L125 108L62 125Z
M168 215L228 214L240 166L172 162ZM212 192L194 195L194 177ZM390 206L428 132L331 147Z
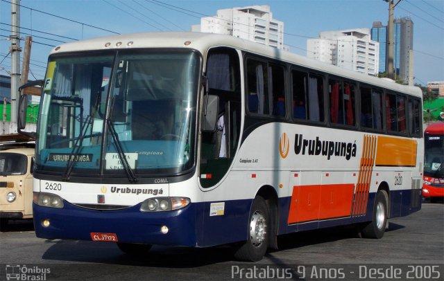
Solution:
M444 136L425 136L424 175L435 179L444 178Z

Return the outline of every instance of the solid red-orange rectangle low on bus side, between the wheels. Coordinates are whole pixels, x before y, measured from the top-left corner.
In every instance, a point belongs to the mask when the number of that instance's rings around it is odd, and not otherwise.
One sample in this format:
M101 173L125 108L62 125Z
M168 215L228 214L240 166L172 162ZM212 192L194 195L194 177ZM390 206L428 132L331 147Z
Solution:
M293 186L288 223L350 217L354 189L353 183Z

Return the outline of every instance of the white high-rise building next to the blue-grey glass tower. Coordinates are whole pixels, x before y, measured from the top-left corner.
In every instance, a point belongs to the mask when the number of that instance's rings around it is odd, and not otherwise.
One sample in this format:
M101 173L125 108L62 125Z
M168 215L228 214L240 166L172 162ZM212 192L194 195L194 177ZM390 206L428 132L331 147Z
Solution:
M307 40L307 57L377 75L379 43L370 39L369 28L325 31L318 38Z

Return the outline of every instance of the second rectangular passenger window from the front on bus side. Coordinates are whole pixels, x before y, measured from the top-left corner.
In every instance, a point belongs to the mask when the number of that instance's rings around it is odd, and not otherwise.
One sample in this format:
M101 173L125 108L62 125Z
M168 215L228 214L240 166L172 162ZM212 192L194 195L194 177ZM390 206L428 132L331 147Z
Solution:
M303 71L291 71L293 118L323 122L323 78Z

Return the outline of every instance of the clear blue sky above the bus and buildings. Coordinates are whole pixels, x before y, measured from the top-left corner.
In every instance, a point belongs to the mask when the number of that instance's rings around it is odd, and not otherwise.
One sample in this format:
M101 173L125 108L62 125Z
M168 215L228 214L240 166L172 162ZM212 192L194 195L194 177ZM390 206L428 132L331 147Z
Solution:
M395 3L398 0L395 0ZM284 44L307 55L307 39L327 30L371 28L388 21L384 0L22 0L22 37L33 36L29 80L42 79L46 60L62 42L158 31L189 31L225 8L268 5L284 22ZM10 0L0 0L0 74L10 73ZM413 21L415 83L444 80L444 0L401 0L394 17ZM23 42L21 43L23 46Z

